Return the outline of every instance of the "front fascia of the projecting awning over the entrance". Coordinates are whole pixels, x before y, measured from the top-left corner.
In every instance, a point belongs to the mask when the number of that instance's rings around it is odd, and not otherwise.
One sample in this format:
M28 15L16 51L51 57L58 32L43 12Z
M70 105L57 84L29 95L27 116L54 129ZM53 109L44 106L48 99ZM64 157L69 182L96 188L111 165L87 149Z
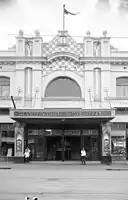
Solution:
M113 119L115 109L11 109L12 119Z

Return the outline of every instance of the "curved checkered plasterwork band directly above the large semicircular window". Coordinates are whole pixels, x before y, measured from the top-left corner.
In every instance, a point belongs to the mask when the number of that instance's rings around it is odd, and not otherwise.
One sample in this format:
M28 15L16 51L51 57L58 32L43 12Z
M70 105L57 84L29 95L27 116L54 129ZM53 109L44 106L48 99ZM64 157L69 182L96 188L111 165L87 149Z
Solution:
M84 75L84 65L69 57L57 57L42 65L43 76L53 71L73 71L79 76Z

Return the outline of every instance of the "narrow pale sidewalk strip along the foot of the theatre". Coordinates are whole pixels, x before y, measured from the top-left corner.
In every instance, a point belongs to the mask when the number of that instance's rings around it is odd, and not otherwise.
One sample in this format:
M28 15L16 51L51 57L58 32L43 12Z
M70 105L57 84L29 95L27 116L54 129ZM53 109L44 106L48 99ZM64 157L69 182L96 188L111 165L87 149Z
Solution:
M37 169L83 169L87 170L128 170L126 162L112 163L111 165L101 164L100 162L87 161L86 165L81 165L80 161L32 161L30 163L16 164L12 162L1 162L0 169L17 169L17 170L37 170Z

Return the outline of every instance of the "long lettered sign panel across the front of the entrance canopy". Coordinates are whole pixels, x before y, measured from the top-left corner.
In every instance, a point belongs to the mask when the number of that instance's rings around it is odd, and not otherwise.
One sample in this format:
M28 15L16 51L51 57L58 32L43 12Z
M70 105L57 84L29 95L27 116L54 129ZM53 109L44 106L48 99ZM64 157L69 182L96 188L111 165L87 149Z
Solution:
M74 110L45 111L44 110L11 110L12 118L101 118L113 117L111 110Z

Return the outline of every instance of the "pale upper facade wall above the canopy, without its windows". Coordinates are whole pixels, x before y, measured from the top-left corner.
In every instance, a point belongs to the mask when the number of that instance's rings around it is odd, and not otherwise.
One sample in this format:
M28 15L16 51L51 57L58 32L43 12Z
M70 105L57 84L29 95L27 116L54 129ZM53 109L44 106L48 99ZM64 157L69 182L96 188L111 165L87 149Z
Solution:
M66 36L64 44L63 34ZM61 31L46 44L39 32L32 38L26 38L20 31L16 48L7 53L0 52L0 76L10 78L10 96L14 97L16 106L20 108L128 107L126 99L116 99L116 78L128 76L127 59L124 62L127 52L111 51L110 43L106 32L99 38L91 37L88 32L84 42L79 44L67 32ZM113 61L113 56L119 61ZM32 70L30 96L25 95L26 68ZM95 99L94 89L96 81L99 81L94 78L95 69L101 70L101 99ZM81 89L81 97L46 98L47 86L57 77L73 79ZM97 84L96 88L100 91L98 87ZM9 107L12 102L7 97L0 97L0 106Z

